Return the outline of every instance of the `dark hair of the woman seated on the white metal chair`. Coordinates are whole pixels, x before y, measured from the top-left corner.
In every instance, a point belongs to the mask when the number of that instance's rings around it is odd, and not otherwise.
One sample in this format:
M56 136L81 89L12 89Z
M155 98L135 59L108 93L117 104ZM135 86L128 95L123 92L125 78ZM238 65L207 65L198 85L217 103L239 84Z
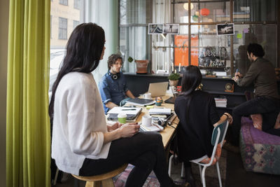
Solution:
M187 99L187 118L190 106L190 100L192 99L193 92L202 82L202 74L198 67L190 65L183 69L182 78L182 92L181 95Z

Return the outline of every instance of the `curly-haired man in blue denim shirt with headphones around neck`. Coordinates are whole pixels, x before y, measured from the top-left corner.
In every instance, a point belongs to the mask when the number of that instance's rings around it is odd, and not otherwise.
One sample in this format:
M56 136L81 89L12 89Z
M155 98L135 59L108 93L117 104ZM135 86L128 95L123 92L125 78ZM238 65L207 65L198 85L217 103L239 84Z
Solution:
M125 76L120 72L123 65L123 58L118 54L113 54L108 58L108 72L99 81L99 92L102 97L104 111L118 106L125 97L134 98L134 95L127 88Z

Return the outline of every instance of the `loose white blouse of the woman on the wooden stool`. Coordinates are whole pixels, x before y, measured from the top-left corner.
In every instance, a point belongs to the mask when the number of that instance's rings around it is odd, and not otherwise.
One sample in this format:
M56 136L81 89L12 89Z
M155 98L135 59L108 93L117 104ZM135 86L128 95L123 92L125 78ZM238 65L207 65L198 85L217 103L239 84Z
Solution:
M55 92L52 158L57 167L78 175L85 158L107 158L111 142L104 144L106 118L92 74L71 72Z

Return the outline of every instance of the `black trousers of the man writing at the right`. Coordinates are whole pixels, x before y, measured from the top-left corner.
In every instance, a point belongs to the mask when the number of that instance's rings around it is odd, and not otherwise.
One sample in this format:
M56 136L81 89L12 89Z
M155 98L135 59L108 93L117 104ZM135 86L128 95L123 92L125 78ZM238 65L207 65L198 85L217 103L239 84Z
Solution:
M280 129L274 129L277 115L279 113L279 99L261 96L255 97L244 104L240 104L232 111L232 144L239 144L239 131L241 128L241 117L251 114L262 114L262 131L280 136Z

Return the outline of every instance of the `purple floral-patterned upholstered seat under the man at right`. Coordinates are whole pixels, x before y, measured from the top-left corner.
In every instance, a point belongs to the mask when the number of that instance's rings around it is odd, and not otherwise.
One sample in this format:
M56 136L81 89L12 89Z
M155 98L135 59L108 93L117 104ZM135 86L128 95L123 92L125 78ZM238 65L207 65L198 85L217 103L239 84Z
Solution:
M280 137L256 129L243 117L239 147L246 171L280 174Z

